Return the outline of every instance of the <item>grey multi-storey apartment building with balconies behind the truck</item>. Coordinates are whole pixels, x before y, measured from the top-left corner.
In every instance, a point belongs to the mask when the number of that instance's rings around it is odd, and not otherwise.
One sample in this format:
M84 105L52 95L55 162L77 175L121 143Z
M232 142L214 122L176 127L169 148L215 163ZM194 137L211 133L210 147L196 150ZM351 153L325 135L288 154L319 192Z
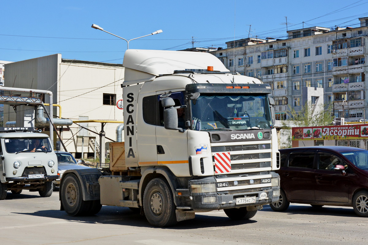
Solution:
M368 118L364 90L368 17L357 28L308 27L289 30L287 39L247 38L227 42L212 51L224 65L242 75L270 84L276 119L287 118L289 106L299 111L305 103L331 103L331 113L347 122ZM322 98L311 89L322 88ZM307 92L303 92L303 91ZM309 92L308 92L309 91ZM365 113L365 116L364 116Z

